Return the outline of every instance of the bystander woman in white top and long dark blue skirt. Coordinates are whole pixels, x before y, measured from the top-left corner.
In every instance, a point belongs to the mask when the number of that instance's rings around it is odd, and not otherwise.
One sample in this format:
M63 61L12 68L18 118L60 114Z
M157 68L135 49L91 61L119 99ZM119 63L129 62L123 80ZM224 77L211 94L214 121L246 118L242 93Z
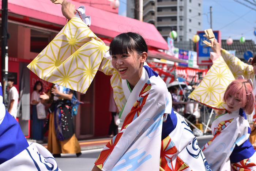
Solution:
M35 82L34 91L31 94L32 105L32 138L38 142L42 142L44 135L42 130L44 128L44 119L37 118L37 104L40 102L40 94L43 90L42 82Z

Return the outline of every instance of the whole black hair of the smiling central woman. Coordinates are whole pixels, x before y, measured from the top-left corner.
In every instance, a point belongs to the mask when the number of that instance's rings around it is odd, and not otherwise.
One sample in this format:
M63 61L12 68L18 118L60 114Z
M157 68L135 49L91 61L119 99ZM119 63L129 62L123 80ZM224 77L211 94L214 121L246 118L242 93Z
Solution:
M147 43L143 37L137 33L128 32L116 36L110 43L110 56L117 54L133 54L135 50L138 54L147 52Z

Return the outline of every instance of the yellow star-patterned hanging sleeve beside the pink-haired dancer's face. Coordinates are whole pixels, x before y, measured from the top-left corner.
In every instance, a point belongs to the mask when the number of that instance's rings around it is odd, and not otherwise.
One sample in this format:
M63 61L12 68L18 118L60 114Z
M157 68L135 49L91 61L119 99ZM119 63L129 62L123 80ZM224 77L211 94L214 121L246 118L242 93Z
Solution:
M213 109L225 109L224 93L227 86L234 80L235 78L223 57L219 57L212 64L199 86L189 95L189 98Z

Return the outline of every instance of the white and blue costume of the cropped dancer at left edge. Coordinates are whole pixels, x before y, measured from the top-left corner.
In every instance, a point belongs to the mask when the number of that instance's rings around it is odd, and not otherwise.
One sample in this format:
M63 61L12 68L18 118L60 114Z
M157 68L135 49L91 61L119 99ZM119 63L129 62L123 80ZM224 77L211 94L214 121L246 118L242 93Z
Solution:
M45 147L27 142L19 123L5 110L1 83L0 142L1 171L61 171Z

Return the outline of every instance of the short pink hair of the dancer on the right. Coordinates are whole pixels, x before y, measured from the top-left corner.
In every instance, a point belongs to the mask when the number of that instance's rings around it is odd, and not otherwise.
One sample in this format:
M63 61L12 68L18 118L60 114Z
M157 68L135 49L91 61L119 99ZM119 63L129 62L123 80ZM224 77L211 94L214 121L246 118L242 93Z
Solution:
M252 114L255 108L255 98L252 92L252 85L247 80L238 79L229 84L223 98L225 103L229 94L242 99L242 106L244 106L245 113Z

